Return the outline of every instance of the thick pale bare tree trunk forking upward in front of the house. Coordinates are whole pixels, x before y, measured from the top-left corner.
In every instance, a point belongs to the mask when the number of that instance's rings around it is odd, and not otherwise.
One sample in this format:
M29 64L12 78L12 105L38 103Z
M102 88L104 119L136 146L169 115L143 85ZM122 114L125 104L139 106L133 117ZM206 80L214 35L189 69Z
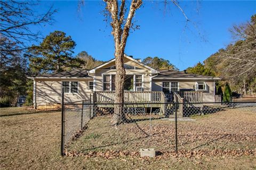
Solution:
M126 121L124 112L123 112L123 103L124 103L124 49L126 46L126 40L129 36L129 31L132 23L132 18L135 11L142 4L142 0L133 0L130 5L129 13L124 20L125 16L125 0L121 1L120 7L118 6L118 1L108 1L105 0L107 6L106 9L109 11L112 22L111 27L112 35L114 36L115 41L115 58L116 58L116 96L115 96L115 109L114 116L111 120L113 125L118 125ZM122 28L122 25L123 28Z

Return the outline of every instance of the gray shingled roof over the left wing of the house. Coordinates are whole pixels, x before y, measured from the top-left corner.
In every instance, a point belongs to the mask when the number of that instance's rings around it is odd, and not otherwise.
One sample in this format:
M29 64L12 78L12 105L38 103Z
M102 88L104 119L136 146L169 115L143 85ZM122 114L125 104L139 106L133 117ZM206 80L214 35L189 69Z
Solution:
M76 69L71 71L62 71L60 73L37 75L36 78L85 78L89 77L87 70Z

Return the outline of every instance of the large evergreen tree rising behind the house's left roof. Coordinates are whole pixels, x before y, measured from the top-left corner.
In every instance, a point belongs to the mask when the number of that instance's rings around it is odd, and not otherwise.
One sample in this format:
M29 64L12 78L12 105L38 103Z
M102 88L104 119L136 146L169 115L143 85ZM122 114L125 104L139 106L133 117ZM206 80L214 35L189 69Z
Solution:
M82 68L85 62L72 57L75 46L75 41L65 32L50 33L39 46L30 47L28 57L31 71L40 74Z

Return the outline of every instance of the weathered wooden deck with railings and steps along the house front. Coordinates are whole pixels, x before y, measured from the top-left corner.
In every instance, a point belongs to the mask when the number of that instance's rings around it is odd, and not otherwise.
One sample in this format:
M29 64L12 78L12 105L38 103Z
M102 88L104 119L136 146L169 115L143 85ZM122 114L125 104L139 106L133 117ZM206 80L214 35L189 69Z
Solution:
M98 107L114 107L115 91L95 91L93 94L94 104ZM167 109L174 107L170 100L174 98L174 102L178 105L178 113L183 116L183 103L202 103L203 92L201 91L181 91L171 94L164 94L163 91L125 91L124 105L125 107L159 107L163 114ZM182 104L181 104L182 103Z

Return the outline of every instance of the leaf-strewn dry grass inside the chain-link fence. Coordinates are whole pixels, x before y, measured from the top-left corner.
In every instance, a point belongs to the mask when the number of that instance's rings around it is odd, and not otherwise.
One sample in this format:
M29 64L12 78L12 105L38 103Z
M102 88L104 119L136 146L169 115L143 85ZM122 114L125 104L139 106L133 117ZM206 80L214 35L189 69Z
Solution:
M253 109L243 109L236 108L193 117L196 121L179 121L179 149L256 149L256 114L252 112ZM140 120L139 117L136 118ZM85 154L90 151L106 150L138 151L140 148L155 148L160 152L175 149L173 121L145 120L122 124L115 129L110 126L110 119L110 116L93 118L83 137L68 145L67 149Z

